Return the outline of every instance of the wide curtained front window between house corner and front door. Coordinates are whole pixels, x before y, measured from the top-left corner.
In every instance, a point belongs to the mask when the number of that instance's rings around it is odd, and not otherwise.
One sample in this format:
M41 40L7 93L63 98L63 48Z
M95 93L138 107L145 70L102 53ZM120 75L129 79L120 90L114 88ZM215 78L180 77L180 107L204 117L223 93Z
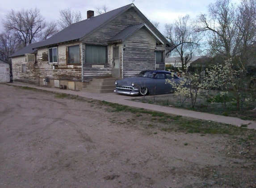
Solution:
M86 64L106 64L107 46L86 45L85 46Z

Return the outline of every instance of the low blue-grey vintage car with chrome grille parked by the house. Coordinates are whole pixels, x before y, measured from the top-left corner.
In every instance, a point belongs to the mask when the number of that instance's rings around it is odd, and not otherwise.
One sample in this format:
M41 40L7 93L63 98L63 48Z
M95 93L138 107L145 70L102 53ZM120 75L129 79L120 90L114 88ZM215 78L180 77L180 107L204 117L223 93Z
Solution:
M128 95L167 94L173 88L168 79L180 82L179 77L164 70L144 70L137 77L123 78L115 82L114 92Z

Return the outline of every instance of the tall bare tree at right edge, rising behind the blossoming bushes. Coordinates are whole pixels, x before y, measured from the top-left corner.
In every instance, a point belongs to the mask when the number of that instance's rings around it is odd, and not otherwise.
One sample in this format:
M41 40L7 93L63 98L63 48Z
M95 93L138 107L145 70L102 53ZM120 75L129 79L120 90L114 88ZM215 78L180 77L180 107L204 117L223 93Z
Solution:
M242 0L238 6L231 0L217 0L209 5L209 16L201 14L196 30L208 33L209 51L221 57L221 62L231 64L231 80L237 108L247 95L251 79L247 67L256 59L256 0Z

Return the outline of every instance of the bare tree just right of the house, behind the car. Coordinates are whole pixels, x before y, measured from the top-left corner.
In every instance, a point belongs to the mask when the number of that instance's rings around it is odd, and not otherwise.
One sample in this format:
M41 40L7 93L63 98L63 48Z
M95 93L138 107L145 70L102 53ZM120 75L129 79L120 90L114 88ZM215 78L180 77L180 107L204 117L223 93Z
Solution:
M165 25L165 37L171 43L172 47L167 50L180 57L181 69L185 71L185 66L192 58L193 53L199 49L201 36L194 32L191 27L189 15L179 17L173 24Z

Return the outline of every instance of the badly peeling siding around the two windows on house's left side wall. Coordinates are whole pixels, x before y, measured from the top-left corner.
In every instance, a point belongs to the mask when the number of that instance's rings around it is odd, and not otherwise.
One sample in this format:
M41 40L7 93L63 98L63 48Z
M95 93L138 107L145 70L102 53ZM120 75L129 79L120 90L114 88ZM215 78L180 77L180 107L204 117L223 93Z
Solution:
M38 68L40 69L40 78L52 78L57 80L82 81L82 63L67 65L66 47L79 45L79 43L67 43L58 45L58 65L50 65L48 61L48 48L38 49ZM81 46L81 45L80 45ZM80 48L80 61L82 61ZM54 67L54 69L53 69Z

